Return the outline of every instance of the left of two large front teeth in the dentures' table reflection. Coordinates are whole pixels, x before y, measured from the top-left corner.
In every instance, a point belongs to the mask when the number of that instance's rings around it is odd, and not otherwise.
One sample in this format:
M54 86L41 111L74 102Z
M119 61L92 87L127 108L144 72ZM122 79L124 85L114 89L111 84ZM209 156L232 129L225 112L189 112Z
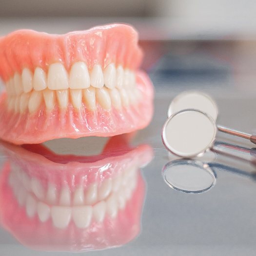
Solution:
M67 227L71 213L71 208L68 206L53 206L51 208L51 216L54 226L61 229Z

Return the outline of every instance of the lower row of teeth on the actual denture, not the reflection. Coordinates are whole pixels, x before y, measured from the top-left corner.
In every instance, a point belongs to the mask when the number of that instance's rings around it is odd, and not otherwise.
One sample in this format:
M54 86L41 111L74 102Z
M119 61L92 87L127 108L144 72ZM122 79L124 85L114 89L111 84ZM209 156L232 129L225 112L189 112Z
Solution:
M79 109L82 103L90 110L96 110L96 103L106 110L111 107L120 109L129 104L138 102L139 91L135 87L122 89L108 89L106 87L94 88L90 86L87 89L66 89L66 90L33 90L30 93L22 93L19 96L8 97L8 110L14 110L16 113L24 113L27 109L30 113L37 111L42 103L47 110L52 110L55 104L65 109L69 102Z

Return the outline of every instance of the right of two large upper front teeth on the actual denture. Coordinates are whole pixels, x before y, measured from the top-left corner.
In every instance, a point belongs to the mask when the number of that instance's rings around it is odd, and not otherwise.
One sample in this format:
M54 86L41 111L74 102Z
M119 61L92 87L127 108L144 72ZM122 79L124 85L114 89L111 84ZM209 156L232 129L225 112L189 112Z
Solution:
M90 75L84 62L78 61L73 64L69 74L69 88L85 89L90 87Z

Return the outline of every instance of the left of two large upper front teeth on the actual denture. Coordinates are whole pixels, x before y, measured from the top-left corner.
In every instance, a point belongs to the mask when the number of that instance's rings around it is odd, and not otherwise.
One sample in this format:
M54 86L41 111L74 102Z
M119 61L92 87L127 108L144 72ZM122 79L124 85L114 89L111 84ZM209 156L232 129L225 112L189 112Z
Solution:
M48 70L48 88L51 90L68 89L68 74L61 63L51 64Z

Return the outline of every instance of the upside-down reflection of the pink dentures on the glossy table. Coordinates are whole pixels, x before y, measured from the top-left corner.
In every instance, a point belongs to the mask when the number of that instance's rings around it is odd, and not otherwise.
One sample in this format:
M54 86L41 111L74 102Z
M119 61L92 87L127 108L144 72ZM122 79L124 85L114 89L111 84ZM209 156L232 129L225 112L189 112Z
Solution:
M5 144L2 225L39 250L84 251L129 242L140 230L144 181L138 168L151 160L152 150L141 145L113 151L120 138L110 139L93 160Z

